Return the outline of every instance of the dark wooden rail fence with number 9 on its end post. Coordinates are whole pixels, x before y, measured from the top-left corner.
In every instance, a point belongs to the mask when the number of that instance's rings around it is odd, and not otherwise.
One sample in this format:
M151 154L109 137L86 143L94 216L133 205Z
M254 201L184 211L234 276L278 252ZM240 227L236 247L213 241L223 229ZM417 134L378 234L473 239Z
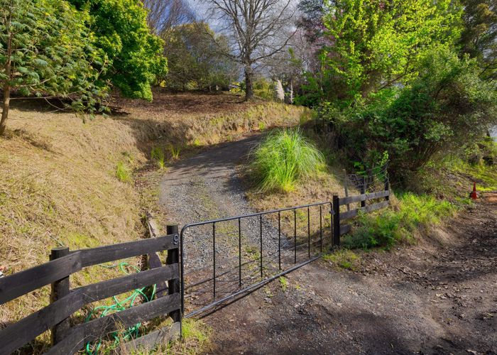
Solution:
M158 238L77 251L62 247L52 250L48 263L0 278L0 305L52 285L50 305L0 330L0 354L11 354L48 329L52 330L52 347L48 354L74 354L87 342L101 339L118 327L131 327L163 315L170 315L175 324L179 324L179 242L178 226L168 226L168 235ZM156 262L159 251L168 251L164 266ZM70 289L69 276L82 268L141 255L155 260L155 263L149 263L146 271ZM167 290L158 293L155 300L89 322L70 324L71 315L84 305L165 281L168 282ZM178 329L178 326L174 328ZM163 334L158 332L143 336L142 344ZM136 343L140 344L140 341Z

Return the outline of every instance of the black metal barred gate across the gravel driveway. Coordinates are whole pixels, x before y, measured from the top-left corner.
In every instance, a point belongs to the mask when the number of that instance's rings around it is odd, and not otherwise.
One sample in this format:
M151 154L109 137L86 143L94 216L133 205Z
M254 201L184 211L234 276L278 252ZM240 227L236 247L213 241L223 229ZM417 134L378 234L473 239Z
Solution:
M332 237L332 202L187 224L180 234L184 317L320 258Z

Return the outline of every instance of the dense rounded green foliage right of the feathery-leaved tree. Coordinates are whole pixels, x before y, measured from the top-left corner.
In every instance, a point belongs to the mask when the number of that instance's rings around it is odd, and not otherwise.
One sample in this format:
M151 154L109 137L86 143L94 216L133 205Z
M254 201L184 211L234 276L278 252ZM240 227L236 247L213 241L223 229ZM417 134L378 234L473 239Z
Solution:
M107 54L105 76L126 97L152 99L151 83L167 72L163 41L150 33L147 11L136 0L70 0L86 12L95 45Z

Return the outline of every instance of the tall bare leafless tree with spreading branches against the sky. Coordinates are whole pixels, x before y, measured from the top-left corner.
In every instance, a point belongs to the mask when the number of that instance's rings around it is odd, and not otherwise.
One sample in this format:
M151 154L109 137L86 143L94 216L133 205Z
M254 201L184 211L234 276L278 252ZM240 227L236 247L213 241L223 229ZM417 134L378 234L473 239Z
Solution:
M231 38L222 53L244 68L245 99L253 98L254 66L285 49L292 37L292 0L206 0L221 33ZM228 34L229 33L229 34Z

